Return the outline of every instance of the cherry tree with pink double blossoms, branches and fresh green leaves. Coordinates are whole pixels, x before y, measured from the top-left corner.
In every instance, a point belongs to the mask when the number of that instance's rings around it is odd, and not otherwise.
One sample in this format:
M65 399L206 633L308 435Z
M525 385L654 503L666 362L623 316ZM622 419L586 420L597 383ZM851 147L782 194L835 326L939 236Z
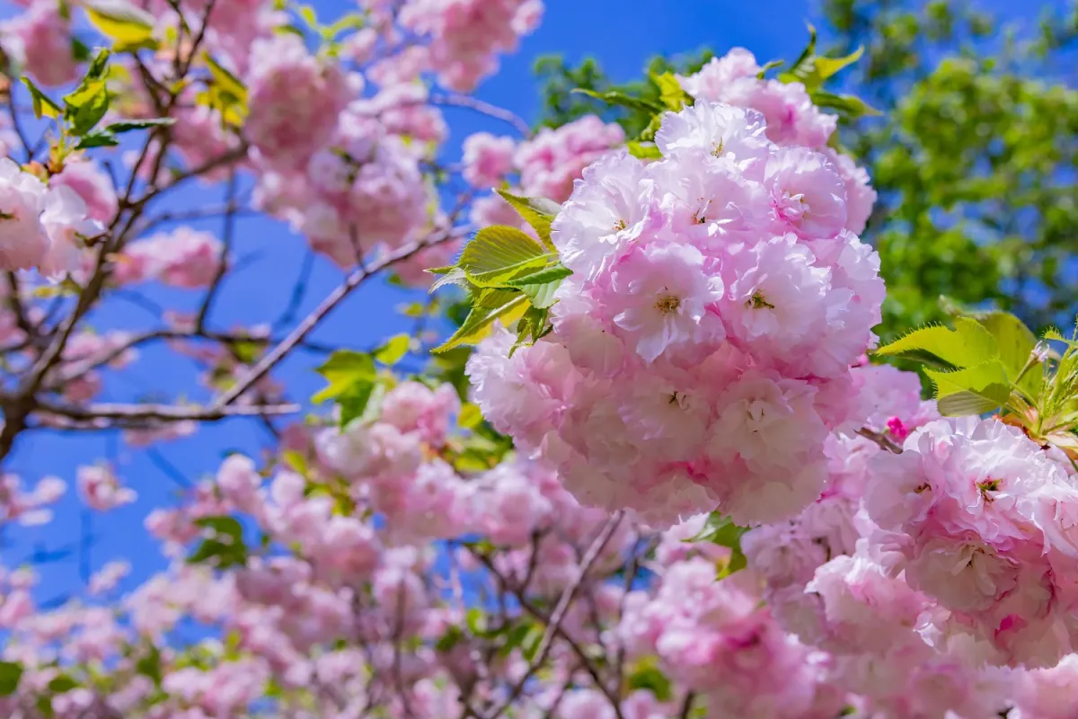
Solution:
M273 444L146 517L168 566L132 592L124 557L58 607L2 568L4 716L1078 710L1078 336L964 310L877 346L875 192L835 140L875 110L828 89L859 53L733 49L651 78L658 98L599 94L650 117L632 136L533 133L469 93L538 0L330 24L268 0L17 4L0 459L36 432L152 448L233 418ZM446 107L505 134L446 164ZM199 184L223 204L184 202ZM307 316L219 326L245 215L340 269ZM386 277L429 290L416 332L313 345ZM99 324L149 284L194 310ZM155 345L203 386L101 401ZM280 382L302 350L324 356L309 398ZM105 516L138 490L93 459L8 472L0 522L49 523L71 481Z

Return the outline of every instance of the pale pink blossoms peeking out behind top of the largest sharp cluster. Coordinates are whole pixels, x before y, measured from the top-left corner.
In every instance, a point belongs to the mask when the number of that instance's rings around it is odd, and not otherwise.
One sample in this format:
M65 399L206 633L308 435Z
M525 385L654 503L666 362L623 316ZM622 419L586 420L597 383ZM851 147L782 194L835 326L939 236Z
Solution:
M697 100L723 102L756 110L768 123L768 138L776 144L812 148L832 163L846 186L846 223L855 233L865 223L875 203L875 191L868 174L854 162L826 147L838 119L813 105L800 82L762 80L763 70L752 53L734 47L723 57L715 57L699 72L679 77L681 87Z

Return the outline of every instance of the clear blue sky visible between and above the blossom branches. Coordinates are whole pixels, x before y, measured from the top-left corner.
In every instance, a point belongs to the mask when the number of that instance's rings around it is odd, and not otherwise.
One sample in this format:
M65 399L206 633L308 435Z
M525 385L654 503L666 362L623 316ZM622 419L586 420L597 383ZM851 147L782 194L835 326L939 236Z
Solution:
M345 0L315 0L313 4L320 17L334 16L342 9L354 6ZM1009 0L981 4L1001 10ZM806 40L805 22L812 16L810 0L547 0L541 28L524 40L519 54L503 59L501 72L484 83L478 96L527 120L534 119L539 110L539 96L531 66L536 57L548 53L563 53L570 60L595 56L617 80L638 77L645 61L655 54L678 54L705 45L719 53L742 45L761 60L792 58ZM505 132L505 127L467 111L450 112L447 120L452 130L450 153L458 152L460 141L472 132ZM189 205L220 202L219 189L189 192L181 202ZM205 227L219 230L213 223ZM302 239L271 221L244 220L238 235L237 255L251 260L223 288L211 323L218 329L276 318L288 303L304 255ZM338 271L318 260L302 309L309 310L340 279ZM153 292L151 296L170 307L177 303L191 306L197 299L197 294L186 292ZM393 308L407 299L402 291L381 284L365 286L330 317L314 338L341 347L369 348L379 338L406 329ZM120 301L109 303L96 319L99 330L144 329L156 321L146 309ZM300 355L280 371L278 376L290 386L294 398L307 397L321 385L312 367L313 358ZM190 363L158 348L144 351L137 364L110 381L102 399L135 401L148 391L162 389L175 397L194 386L195 374ZM212 473L225 453L257 452L266 443L267 435L257 423L232 420L204 426L189 440L160 444L157 448L179 472L195 481ZM109 559L127 558L135 566L135 573L125 583L126 587L165 566L156 543L142 528L142 518L154 507L174 501L177 484L143 452L124 448L114 434L73 439L43 433L24 435L5 469L30 483L46 474L58 475L68 481L69 495L52 524L39 529L15 527L6 533L2 550L5 565L26 559L34 548L73 549L82 521L74 492L74 470L100 458L115 464L125 483L139 493L139 500L106 514L95 514L95 541L89 554L81 558L88 559L94 570ZM78 592L81 586L78 553L41 566L40 570L44 577L40 592L43 600Z

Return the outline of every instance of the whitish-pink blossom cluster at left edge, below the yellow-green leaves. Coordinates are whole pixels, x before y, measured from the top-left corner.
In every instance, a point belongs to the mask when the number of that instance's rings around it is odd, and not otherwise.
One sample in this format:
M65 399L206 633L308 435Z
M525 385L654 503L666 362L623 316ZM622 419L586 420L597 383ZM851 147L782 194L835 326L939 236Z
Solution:
M61 277L81 267L86 240L100 231L75 190L0 160L0 267Z

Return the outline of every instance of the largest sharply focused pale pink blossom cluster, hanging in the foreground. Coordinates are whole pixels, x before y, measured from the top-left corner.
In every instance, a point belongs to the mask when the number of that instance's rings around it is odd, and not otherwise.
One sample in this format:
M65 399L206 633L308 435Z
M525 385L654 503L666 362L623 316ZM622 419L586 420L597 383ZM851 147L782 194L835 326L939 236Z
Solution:
M553 333L510 358L496 332L470 360L484 415L584 503L757 524L825 488L884 287L833 164L765 130L697 102L664 116L662 160L585 169L552 227L573 272Z

